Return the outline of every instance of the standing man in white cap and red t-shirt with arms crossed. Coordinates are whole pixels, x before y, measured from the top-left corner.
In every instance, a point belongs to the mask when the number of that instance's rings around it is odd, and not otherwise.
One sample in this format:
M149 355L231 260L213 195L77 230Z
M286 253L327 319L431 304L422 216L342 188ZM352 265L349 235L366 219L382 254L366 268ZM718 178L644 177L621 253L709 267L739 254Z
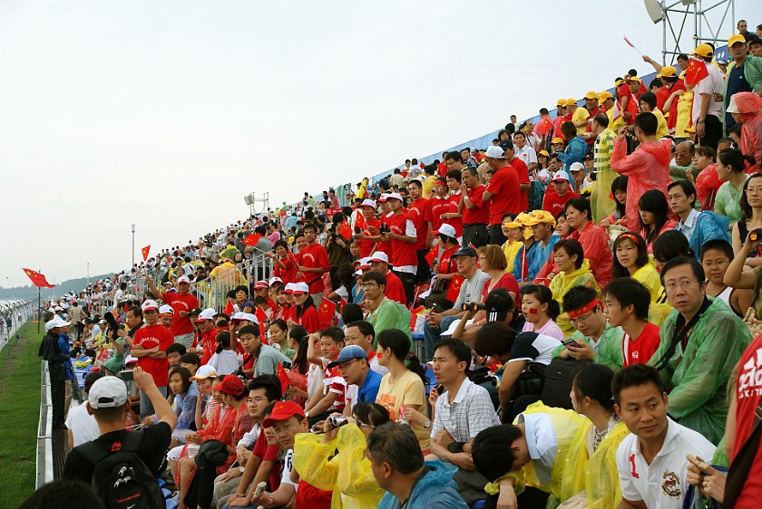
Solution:
M171 332L159 325L159 304L148 300L142 303L141 311L145 325L135 332L130 355L137 358L138 366L151 373L153 382L160 392L167 396L167 348L172 344ZM148 395L141 391L141 418L152 415L153 407Z

